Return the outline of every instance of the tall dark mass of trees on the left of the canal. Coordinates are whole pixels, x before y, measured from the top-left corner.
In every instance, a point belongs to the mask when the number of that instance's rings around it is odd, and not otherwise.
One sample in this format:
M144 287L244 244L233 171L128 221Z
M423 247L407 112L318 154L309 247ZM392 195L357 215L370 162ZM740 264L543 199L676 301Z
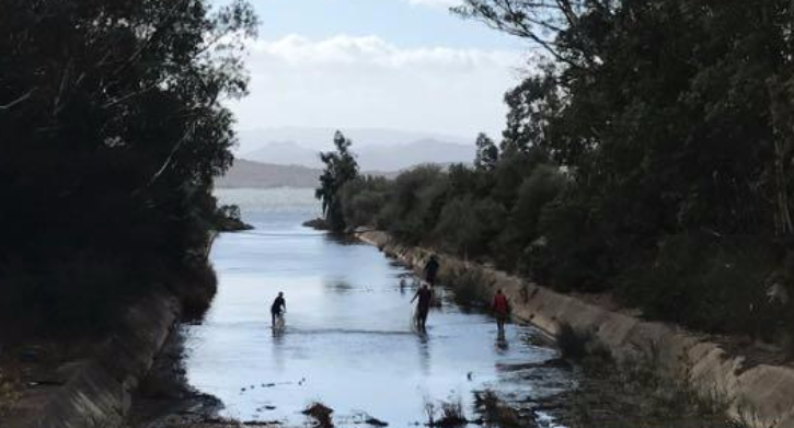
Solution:
M235 1L0 0L0 316L96 326L158 284L206 286L245 93ZM7 323L8 324L8 323Z

